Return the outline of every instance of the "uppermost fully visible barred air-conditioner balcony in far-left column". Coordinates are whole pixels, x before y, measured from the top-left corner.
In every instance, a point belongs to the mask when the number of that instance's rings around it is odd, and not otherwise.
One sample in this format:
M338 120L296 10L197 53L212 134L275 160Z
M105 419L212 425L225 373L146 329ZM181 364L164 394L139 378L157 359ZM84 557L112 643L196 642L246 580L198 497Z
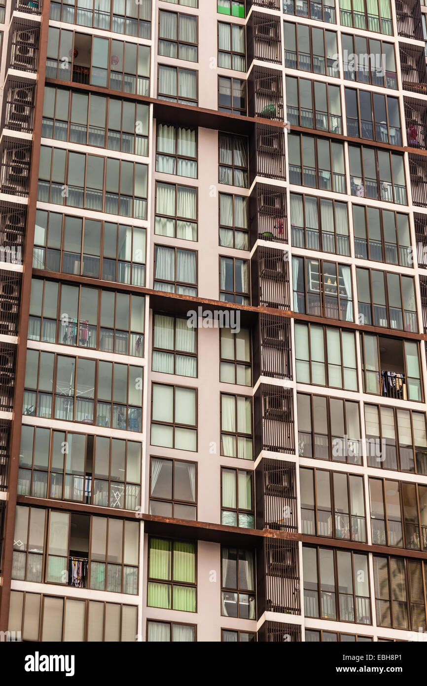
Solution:
M39 37L40 27L31 21L14 18L10 27L7 68L36 73Z

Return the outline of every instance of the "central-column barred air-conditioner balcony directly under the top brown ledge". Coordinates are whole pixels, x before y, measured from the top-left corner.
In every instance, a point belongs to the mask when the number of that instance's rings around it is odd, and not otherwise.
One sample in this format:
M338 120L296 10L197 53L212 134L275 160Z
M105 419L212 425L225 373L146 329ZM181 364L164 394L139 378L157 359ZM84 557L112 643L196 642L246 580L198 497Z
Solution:
M251 183L255 176L266 176L280 181L286 179L284 131L276 126L256 124L249 143L249 169Z

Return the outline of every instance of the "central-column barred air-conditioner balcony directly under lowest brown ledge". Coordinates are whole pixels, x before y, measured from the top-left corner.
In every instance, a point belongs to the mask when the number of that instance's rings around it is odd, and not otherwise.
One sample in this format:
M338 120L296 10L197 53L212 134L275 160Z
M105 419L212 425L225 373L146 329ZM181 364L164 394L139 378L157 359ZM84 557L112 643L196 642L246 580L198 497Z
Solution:
M257 556L258 617L264 612L300 613L297 541L264 539Z

